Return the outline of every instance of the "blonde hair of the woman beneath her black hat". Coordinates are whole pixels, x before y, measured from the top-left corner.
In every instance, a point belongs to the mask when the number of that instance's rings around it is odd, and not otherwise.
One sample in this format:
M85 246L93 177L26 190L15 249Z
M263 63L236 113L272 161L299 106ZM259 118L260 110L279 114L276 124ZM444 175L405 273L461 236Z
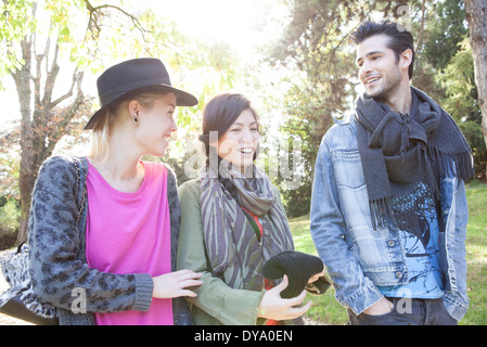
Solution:
M165 94L165 92L146 92L131 97L130 99L118 101L111 105L98 119L91 131L88 156L93 158L99 165L103 164L108 158L112 125L116 121L124 107L126 107L130 101L136 100L143 107L150 110L153 107L154 101Z

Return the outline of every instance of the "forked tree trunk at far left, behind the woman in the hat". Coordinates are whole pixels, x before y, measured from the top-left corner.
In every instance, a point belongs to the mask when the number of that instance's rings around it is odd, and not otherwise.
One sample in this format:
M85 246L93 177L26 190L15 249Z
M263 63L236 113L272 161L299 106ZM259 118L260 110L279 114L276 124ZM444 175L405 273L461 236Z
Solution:
M52 101L52 91L60 67L57 65L59 42L54 42L54 54L48 65L51 40L48 38L43 53L36 54L35 35L26 36L21 42L25 64L12 73L15 81L22 114L21 131L21 168L18 188L21 193L21 226L16 243L27 240L28 216L30 213L31 193L37 180L39 167L51 155L55 143L63 137L65 129L80 105L85 102L81 91L82 72L75 69L71 89L62 97ZM43 86L41 86L43 81ZM77 85L77 97L65 108L63 117L57 117L56 106L73 95ZM43 98L41 98L43 94Z

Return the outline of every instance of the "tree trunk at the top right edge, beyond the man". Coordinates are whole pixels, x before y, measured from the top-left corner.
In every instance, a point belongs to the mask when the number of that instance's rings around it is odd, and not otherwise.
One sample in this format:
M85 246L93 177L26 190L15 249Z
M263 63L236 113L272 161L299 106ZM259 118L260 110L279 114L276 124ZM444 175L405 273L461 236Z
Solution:
M465 0L465 16L470 27L482 130L487 145L487 0Z

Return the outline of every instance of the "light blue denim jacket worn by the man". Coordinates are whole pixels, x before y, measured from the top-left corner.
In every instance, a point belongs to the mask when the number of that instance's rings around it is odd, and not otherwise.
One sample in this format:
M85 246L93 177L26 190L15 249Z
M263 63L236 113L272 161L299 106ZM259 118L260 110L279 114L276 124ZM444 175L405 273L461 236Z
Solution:
M465 187L449 172L440 182L440 266L444 303L461 320L466 312ZM310 232L335 286L339 304L359 314L383 295L377 285L408 283L398 230L372 228L369 198L354 119L334 125L318 152L311 197Z

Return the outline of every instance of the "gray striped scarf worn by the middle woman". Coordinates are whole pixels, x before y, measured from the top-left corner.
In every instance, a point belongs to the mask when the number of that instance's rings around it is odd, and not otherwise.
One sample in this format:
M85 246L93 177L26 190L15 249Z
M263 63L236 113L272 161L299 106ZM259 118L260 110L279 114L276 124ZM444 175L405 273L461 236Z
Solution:
M272 185L264 171L252 165L253 175L248 178L228 168L228 162L221 160L220 176L233 184L239 203L212 167L201 171L201 210L207 255L218 277L234 264L231 273L225 273L229 286L261 290L264 264L281 252L294 249L293 237L285 213L281 204L275 203ZM259 216L264 229L261 237L242 207Z

